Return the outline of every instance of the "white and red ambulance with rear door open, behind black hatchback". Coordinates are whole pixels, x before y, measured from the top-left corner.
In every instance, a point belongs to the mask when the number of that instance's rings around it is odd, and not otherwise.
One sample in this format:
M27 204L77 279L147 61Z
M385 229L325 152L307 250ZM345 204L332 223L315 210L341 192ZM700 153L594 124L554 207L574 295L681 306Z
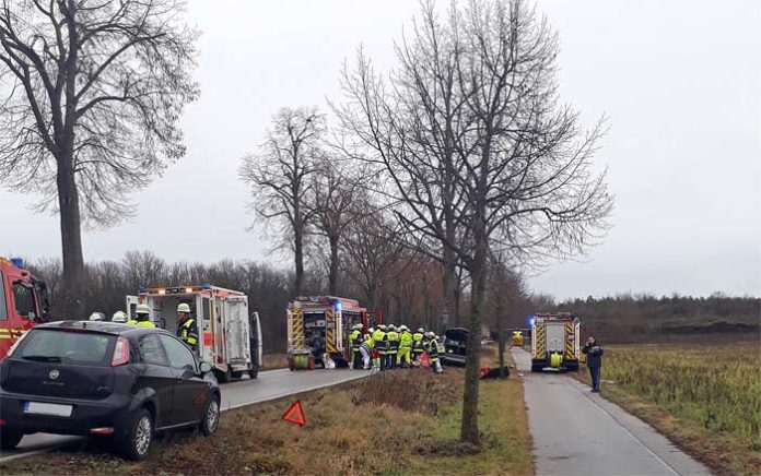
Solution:
M214 368L224 383L248 373L256 379L261 366L261 324L257 312L248 314L248 297L241 291L204 284L202 286L140 288L127 296L127 314L133 319L138 304L151 309L156 326L177 332L177 306L190 306L198 328L198 354Z

